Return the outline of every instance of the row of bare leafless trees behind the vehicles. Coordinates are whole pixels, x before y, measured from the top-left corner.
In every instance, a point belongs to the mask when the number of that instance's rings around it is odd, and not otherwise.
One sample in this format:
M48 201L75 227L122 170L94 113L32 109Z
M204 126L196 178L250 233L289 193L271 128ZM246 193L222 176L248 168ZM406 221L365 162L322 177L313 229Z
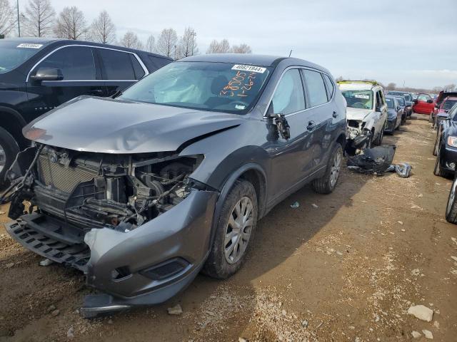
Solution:
M25 11L17 18L17 7L9 0L0 0L0 35L16 34L20 26L21 36L56 37L97 43L125 46L159 53L174 59L193 56L199 53L194 28L187 27L181 36L174 28L164 28L159 36L150 35L145 42L134 33L127 31L119 39L116 26L106 10L101 11L92 23L88 23L84 13L76 6L65 7L56 14L50 0L29 0ZM206 53L252 53L245 43L230 46L227 39L211 41Z

